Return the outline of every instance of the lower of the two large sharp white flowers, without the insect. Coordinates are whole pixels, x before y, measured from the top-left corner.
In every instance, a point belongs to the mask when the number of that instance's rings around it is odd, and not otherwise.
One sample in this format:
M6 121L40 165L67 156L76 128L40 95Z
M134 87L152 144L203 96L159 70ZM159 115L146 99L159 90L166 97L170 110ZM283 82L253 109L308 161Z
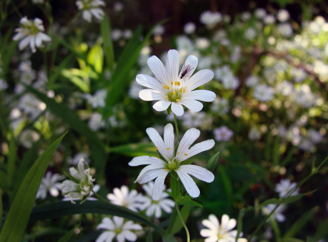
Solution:
M129 165L148 165L141 170L135 182L143 184L157 177L152 191L152 197L154 200L158 200L162 195L164 179L171 171L177 173L188 194L192 197L199 196L200 191L189 174L206 182L212 182L214 180L214 175L205 168L196 165L181 165L182 161L202 151L211 149L215 144L214 140L205 140L189 148L200 135L199 130L191 128L186 131L180 140L175 154L172 124L169 123L164 127L164 141L154 128L147 128L146 132L149 138L153 141L155 149L158 150L161 156L163 156L164 160L156 157L139 156L133 158L129 162Z

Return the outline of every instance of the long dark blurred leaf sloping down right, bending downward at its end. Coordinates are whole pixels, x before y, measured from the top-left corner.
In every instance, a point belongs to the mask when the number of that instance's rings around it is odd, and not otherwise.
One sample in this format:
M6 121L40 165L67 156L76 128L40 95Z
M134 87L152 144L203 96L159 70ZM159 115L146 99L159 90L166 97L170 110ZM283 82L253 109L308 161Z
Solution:
M102 179L104 176L105 165L106 165L106 152L104 144L98 138L95 132L93 132L89 126L80 120L79 116L72 112L66 105L57 103L55 100L48 98L43 93L26 86L27 90L33 93L38 99L46 103L47 108L54 114L60 117L64 122L70 125L70 127L78 132L81 136L88 139L91 148L91 158L94 162L94 167L97 172L98 179Z

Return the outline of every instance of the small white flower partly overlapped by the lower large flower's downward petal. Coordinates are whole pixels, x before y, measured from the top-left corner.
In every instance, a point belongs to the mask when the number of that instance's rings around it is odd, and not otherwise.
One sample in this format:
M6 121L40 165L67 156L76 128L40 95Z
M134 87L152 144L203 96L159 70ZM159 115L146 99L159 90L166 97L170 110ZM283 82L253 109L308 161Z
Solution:
M145 202L140 207L140 210L143 211L146 210L146 215L148 217L155 216L155 218L160 218L162 216L162 209L168 213L172 213L172 208L174 207L174 201L167 198L169 195L165 193L164 191L160 195L160 199L158 201L154 201L152 199L152 190L154 188L154 182L150 181L145 185L142 185L142 188L145 190L148 196L144 196ZM165 185L163 187L165 190Z

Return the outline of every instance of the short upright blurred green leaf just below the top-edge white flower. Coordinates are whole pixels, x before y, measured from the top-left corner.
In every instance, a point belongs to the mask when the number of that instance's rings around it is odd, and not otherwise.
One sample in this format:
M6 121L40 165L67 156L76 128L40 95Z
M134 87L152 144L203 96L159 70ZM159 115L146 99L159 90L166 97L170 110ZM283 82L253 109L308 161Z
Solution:
M100 28L101 36L103 38L103 49L105 52L106 62L109 69L112 70L114 64L114 49L111 36L111 22L107 16L103 17Z

